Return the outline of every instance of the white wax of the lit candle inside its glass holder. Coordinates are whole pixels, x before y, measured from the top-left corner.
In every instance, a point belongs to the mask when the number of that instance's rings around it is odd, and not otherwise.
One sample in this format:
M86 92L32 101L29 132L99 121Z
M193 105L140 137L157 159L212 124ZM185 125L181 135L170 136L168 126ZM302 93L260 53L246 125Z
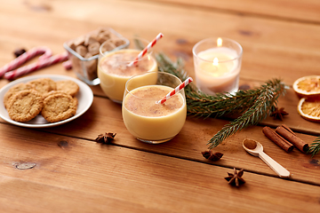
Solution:
M235 50L215 47L200 51L196 57L196 85L207 94L238 89L240 64Z

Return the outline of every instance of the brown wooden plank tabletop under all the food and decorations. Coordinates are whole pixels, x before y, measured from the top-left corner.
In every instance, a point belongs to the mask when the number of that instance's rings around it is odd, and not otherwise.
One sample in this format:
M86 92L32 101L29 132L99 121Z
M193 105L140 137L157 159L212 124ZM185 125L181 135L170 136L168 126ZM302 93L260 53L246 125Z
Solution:
M252 88L272 78L291 86L278 106L289 115L268 117L237 132L212 149L218 162L201 152L228 123L188 117L180 134L160 145L142 143L125 129L121 106L91 86L90 109L72 122L28 129L0 119L0 212L319 212L320 154L311 158L294 149L287 154L262 133L264 126L286 124L312 143L320 126L297 112L292 83L320 75L320 2L316 0L0 0L0 67L16 48L47 46L54 54L62 44L100 27L123 36L149 40L172 60L185 61L194 77L193 45L210 36L236 40L244 48L241 85ZM61 64L29 75L76 77ZM3 87L7 80L0 80ZM94 139L115 132L112 145ZM276 176L267 164L246 153L244 138L292 173ZM17 165L35 163L19 170ZM244 169L246 183L228 185L224 177Z

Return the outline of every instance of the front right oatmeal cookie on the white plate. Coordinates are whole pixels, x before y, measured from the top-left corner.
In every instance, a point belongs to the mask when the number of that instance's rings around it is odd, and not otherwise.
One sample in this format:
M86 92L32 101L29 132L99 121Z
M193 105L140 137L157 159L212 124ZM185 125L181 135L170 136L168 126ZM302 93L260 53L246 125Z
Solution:
M76 114L76 100L68 94L50 95L44 99L41 114L48 122L60 122Z

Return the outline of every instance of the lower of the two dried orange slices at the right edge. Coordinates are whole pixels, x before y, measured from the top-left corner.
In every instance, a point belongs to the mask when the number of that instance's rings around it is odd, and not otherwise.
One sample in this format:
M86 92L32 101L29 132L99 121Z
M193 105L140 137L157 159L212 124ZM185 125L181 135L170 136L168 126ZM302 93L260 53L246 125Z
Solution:
M308 121L320 122L320 99L300 99L298 113Z

